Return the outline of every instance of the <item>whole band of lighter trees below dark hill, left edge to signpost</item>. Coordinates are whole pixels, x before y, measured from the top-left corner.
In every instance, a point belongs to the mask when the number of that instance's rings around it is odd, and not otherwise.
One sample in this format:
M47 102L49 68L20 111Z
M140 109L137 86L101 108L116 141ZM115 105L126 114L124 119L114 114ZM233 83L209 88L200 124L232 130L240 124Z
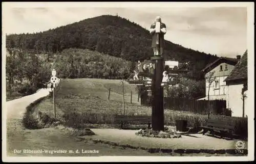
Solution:
M49 61L49 56L51 60ZM127 79L132 62L88 49L65 49L58 54L8 49L7 95L32 94L49 82L52 69L59 78Z

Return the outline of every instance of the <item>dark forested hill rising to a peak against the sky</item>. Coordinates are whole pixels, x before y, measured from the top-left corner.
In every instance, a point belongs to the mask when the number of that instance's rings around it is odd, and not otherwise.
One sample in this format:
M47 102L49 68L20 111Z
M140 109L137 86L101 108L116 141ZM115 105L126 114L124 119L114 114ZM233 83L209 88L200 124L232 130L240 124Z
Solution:
M148 25L150 25L149 22ZM125 18L102 15L35 34L7 36L8 48L60 52L66 48L96 50L129 61L150 59L153 56L151 35L140 25ZM197 70L218 57L165 41L165 60L192 62Z

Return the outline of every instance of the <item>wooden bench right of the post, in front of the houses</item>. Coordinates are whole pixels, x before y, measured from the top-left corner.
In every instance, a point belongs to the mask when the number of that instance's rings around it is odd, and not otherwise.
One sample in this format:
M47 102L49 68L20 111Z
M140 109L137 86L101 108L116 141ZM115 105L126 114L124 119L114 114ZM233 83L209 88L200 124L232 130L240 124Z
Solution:
M203 135L205 132L210 131L211 134L215 135L215 132L218 132L221 136L228 135L229 138L233 139L234 128L236 122L233 120L220 120L220 119L209 119L207 121L207 126L199 126L203 128Z

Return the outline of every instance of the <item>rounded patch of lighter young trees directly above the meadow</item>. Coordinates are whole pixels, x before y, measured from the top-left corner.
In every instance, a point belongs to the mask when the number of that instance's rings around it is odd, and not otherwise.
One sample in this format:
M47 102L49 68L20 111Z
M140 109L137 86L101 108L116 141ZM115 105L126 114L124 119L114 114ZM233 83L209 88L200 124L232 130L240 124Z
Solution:
M127 79L132 62L88 49L65 49L56 55L53 67L60 78Z

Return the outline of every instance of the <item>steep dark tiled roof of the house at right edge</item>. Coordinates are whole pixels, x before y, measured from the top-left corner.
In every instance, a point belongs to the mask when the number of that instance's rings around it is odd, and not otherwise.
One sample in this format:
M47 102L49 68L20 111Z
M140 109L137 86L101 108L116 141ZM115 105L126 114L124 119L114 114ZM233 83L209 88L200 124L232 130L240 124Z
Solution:
M233 81L239 79L247 79L247 50L244 52L241 60L234 66L230 75L224 81Z

